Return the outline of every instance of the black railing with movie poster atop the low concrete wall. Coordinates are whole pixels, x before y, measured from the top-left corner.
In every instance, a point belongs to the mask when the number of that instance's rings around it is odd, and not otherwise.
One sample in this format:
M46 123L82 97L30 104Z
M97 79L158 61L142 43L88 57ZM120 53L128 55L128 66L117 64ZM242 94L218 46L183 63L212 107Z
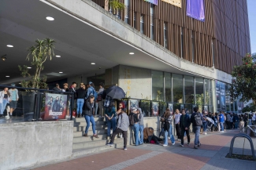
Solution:
M74 106L74 95L72 92L0 85L1 91L5 88L17 89L19 99L16 103L12 103L13 100L11 100L9 102L9 106L4 106L5 104L3 103L0 104L0 107L4 107L4 112L0 114L6 116L5 118L1 118L0 123L58 119L64 120L68 113L70 116L69 119L72 120L72 108ZM15 90L13 91L16 92ZM14 96L16 96L16 94ZM12 117L9 118L7 115L10 116L9 113L12 107L16 109L13 111Z

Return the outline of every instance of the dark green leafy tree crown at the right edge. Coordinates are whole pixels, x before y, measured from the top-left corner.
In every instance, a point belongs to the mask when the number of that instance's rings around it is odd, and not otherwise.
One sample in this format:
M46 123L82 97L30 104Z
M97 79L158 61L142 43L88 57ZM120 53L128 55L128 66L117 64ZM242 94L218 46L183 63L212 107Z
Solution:
M230 87L230 96L232 99L249 102L250 99L256 103L256 63L255 56L247 53L243 57L243 64L235 66L232 70L232 85Z

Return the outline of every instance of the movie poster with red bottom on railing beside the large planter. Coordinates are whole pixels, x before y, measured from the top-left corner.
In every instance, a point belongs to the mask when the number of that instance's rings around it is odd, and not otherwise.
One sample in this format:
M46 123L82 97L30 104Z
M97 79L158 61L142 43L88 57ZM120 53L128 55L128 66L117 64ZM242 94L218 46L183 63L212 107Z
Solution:
M44 120L65 119L67 95L46 93Z

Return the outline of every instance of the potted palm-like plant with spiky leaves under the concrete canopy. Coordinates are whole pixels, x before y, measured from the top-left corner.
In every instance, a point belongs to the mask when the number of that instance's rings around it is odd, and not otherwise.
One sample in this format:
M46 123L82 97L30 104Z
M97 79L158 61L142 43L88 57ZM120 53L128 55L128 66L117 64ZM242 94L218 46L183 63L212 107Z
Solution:
M43 71L43 63L46 60L51 60L54 56L54 40L50 38L45 38L43 40L36 40L35 45L28 48L27 60L32 58L32 66L35 67L35 75L31 76L28 74L28 67L19 67L21 75L31 78L28 81L21 81L21 85L25 88L35 88L35 89L46 89L46 76L40 78L40 73Z

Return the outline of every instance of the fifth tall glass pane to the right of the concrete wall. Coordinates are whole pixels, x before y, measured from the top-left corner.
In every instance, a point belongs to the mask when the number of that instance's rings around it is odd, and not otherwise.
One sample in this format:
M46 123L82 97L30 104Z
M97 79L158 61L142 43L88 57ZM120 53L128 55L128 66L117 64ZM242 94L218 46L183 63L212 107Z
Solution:
M195 102L201 112L204 104L203 78L195 78Z

